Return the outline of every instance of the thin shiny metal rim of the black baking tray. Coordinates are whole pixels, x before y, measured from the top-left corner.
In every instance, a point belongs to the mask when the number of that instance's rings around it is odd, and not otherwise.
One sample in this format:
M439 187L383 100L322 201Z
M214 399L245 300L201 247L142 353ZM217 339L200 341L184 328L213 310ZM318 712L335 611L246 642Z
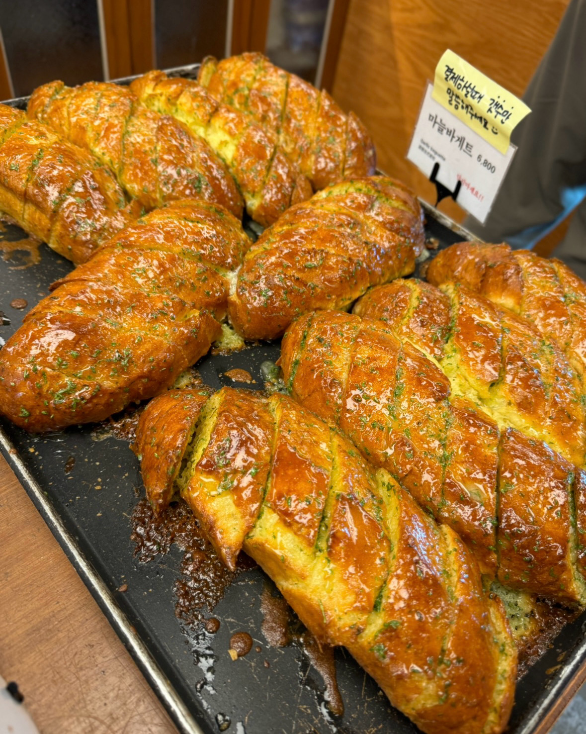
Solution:
M187 76L193 74L199 68L200 63L177 66L164 69L165 73L175 74L175 76ZM133 79L138 79L142 74L122 77L120 79L111 79L114 84L129 84ZM1 101L2 104L10 106L26 105L30 95L24 97L16 97ZM389 175L381 169L376 170L377 174ZM479 241L479 238L462 225L455 222L451 217L439 211L435 206L428 203L422 197L417 196L423 211L429 217L435 219L444 227L450 229L455 234L463 237L466 241ZM139 638L133 626L123 613L122 609L116 603L114 596L111 594L108 586L106 586L99 573L92 566L89 559L79 548L73 534L67 530L59 513L54 508L51 501L43 493L40 484L34 479L32 474L21 459L21 455L12 444L12 440L0 426L0 454L4 456L7 464L17 476L19 482L26 494L32 500L37 511L51 530L56 541L64 551L67 559L76 569L81 580L87 586L90 594L98 604L99 608L108 619L111 627L117 633L122 644L124 644L128 653L130 653L133 661L139 667L142 675L157 695L158 699L166 708L167 713L177 726L181 734L205 734L199 724L195 721L187 706L177 694L170 681L164 675L161 667L147 646ZM541 695L541 700L535 705L534 710L527 715L524 724L513 734L546 734L557 718L563 713L565 707L574 697L582 683L586 681L586 631L582 642L574 648L574 651L563 664L563 671L560 676L549 688L546 695Z

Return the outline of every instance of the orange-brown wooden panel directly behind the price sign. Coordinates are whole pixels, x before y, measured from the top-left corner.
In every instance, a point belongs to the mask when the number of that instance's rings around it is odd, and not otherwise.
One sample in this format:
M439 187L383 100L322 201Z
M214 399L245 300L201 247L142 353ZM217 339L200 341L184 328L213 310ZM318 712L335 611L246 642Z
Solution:
M522 95L568 0L351 0L334 98L364 120L378 165L431 203L435 187L405 156L428 79L451 48ZM458 221L453 201L440 205Z

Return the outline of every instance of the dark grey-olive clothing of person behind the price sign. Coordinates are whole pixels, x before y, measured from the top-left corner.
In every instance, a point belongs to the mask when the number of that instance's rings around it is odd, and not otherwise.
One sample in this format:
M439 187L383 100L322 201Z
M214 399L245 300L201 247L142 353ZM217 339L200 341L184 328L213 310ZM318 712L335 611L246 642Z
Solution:
M532 247L577 207L554 255L586 279L586 0L572 0L523 97L532 112L513 131L518 146L485 225L488 242Z

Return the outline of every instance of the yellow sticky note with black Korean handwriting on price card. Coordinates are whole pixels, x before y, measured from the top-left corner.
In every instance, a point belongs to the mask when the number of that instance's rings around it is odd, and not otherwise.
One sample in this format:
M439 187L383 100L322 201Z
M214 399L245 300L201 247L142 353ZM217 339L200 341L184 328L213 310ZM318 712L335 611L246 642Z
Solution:
M514 128L531 112L518 97L449 48L436 66L433 99L501 153L507 152Z

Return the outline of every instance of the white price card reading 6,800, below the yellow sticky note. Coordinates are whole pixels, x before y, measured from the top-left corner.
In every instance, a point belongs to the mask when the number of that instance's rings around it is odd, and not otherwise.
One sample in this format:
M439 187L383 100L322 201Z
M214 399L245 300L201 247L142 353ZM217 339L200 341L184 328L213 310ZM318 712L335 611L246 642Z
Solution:
M503 155L466 123L448 112L432 96L428 84L407 158L429 178L436 163L436 180L454 191L461 181L456 201L484 222L500 189L516 146Z

